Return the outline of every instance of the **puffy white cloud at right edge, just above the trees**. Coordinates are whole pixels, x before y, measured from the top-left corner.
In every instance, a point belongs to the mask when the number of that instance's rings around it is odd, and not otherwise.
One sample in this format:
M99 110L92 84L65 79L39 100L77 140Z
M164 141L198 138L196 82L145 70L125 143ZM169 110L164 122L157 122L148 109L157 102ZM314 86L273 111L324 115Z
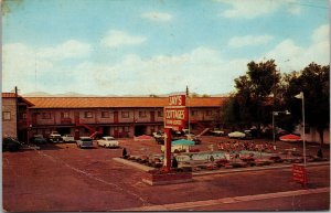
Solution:
M311 35L309 46L300 46L292 40L285 40L266 53L267 58L276 60L282 72L300 71L311 62L328 65L330 63L329 26L321 25Z

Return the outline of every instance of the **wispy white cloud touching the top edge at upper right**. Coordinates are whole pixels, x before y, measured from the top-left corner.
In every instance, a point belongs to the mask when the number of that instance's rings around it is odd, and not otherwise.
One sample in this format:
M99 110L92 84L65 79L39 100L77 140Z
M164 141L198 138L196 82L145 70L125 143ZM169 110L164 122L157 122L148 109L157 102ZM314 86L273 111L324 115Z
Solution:
M296 0L279 1L279 0L218 0L218 2L232 6L232 9L227 9L221 12L222 17L225 18L245 18L255 19L257 17L273 13L286 7L288 12L292 14L300 13L300 7L296 4Z

